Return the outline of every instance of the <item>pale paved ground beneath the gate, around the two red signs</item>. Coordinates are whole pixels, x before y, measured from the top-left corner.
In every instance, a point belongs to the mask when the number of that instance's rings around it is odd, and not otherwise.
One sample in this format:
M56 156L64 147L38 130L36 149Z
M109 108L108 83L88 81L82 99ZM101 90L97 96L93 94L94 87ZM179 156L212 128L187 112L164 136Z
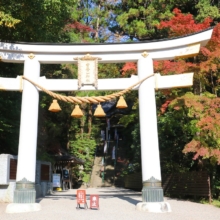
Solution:
M89 195L99 195L99 210L76 209L76 190L55 192L38 199L42 210L37 212L7 214L7 204L0 203L0 220L220 220L220 208L190 201L165 198L171 213L148 213L135 210L141 202L141 193L123 188L88 188Z

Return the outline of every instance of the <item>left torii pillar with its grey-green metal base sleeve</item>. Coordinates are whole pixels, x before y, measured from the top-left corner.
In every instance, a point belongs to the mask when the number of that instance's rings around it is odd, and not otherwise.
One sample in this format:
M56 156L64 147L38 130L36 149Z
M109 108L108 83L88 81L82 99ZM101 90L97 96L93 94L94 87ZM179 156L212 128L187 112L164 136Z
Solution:
M24 76L36 81L40 76L40 63L36 59L24 62ZM35 172L37 153L39 91L23 81L21 121L18 145L18 164L14 203L33 203L36 200ZM33 204L40 209L39 204Z

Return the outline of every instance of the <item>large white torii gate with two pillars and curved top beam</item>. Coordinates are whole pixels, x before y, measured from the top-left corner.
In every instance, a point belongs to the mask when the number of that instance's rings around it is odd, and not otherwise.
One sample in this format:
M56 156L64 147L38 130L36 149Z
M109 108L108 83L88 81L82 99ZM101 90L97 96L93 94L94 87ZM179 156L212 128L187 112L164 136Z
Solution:
M170 40L111 43L111 44L34 44L0 42L2 62L24 63L24 76L50 91L73 90L122 90L153 74L153 60L173 60L196 55L200 46L211 38L212 29L182 38ZM76 79L46 79L40 77L40 64L74 63L75 57L85 54L100 57L100 63L137 62L138 76L120 79L99 79L97 89L85 85L78 89ZM161 170L158 147L155 88L165 89L191 86L193 73L154 77L142 82L139 90L142 200L137 209L152 212L171 211L163 202ZM35 203L35 166L38 126L39 90L30 82L17 78L0 77L0 89L22 92L21 123L18 150L18 166L14 203L7 212L40 210Z

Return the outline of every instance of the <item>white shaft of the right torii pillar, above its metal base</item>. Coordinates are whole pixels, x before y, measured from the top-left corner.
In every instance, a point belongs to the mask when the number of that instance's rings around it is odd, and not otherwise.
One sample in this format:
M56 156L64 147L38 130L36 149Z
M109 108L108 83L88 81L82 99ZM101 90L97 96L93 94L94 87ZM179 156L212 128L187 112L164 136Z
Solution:
M143 79L153 74L153 61L150 55L138 60L138 76ZM155 101L155 79L150 77L139 87L139 112L141 135L142 180L151 177L161 181L157 111Z

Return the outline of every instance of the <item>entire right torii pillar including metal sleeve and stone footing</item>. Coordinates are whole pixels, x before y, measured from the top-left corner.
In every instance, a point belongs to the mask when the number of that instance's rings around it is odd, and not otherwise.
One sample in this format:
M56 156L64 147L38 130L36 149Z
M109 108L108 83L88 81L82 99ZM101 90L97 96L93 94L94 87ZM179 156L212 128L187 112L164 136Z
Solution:
M152 74L153 60L150 55L146 55L138 60L138 76L141 80ZM170 212L169 204L163 201L163 189L161 186L155 77L150 77L141 83L138 94L143 189L142 202L138 203L136 207L139 210L150 212Z

